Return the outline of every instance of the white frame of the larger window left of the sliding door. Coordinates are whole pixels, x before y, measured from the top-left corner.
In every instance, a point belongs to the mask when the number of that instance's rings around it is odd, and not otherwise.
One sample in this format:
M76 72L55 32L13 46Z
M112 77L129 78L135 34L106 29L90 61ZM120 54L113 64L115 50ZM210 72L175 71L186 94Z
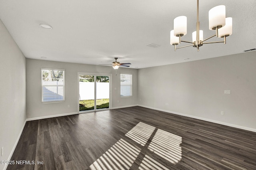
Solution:
M47 71L63 71L63 85L44 85L43 84L43 74L42 72L44 70L47 70ZM52 68L41 68L41 91L42 91L42 97L41 97L41 100L42 100L42 103L59 103L59 102L64 102L65 101L65 69L52 69ZM51 100L51 101L43 101L44 99L44 94L43 94L43 87L47 87L47 86L56 86L56 87L63 87L63 99L62 100Z

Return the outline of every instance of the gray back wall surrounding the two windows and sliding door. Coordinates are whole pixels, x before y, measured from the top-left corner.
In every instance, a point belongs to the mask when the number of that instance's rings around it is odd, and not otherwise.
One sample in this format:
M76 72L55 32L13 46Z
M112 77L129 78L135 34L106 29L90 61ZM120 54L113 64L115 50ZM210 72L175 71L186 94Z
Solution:
M60 103L41 102L41 68L65 69L65 101ZM50 117L52 115L78 112L78 72L112 74L112 108L137 104L137 69L64 63L37 59L26 59L27 118ZM132 73L133 96L120 97L120 73ZM116 87L116 90L114 90ZM119 100L119 103L117 102ZM68 105L70 107L68 108Z

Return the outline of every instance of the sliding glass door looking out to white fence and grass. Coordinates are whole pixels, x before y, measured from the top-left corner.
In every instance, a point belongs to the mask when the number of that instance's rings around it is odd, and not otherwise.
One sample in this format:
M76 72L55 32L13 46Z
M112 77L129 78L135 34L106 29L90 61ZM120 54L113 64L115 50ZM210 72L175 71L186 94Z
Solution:
M79 113L110 108L110 77L78 73Z

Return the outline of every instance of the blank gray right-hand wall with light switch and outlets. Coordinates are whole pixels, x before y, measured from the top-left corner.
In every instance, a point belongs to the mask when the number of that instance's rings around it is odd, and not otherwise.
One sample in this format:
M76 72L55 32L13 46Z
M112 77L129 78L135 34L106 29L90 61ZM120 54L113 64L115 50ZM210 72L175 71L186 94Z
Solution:
M139 69L138 104L256 131L255 56L254 51Z

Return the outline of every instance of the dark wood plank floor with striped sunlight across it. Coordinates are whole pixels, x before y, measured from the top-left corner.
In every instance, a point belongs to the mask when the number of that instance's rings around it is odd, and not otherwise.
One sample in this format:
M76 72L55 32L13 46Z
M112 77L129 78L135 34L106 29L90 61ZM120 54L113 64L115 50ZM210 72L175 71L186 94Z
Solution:
M130 107L28 121L11 160L8 170L256 170L256 133Z

